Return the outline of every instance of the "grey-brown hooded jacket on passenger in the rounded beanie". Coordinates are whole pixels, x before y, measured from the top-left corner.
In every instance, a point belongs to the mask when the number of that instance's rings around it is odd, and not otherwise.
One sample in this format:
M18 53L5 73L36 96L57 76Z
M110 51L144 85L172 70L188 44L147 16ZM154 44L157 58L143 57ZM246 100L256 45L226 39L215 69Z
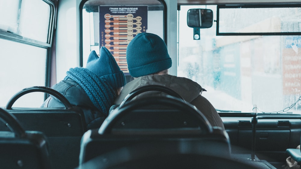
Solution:
M120 95L115 99L114 104L120 104L130 92L146 85L161 85L174 90L186 102L189 102L197 107L197 109L204 114L212 126L218 126L222 129L225 129L222 119L220 118L216 109L206 98L201 95L203 88L198 83L185 77L176 77L168 74L138 77L123 87Z

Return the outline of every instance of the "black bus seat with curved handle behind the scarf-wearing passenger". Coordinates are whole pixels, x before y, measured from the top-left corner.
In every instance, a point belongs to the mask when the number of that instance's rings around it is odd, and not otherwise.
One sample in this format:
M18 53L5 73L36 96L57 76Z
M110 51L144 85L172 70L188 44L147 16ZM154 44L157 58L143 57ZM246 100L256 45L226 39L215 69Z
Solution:
M21 96L30 92L45 92L58 98L65 107L57 108L21 108L12 107ZM5 106L9 113L14 114L25 130L41 131L47 137L54 168L74 168L78 165L79 147L86 124L82 110L72 107L61 93L45 87L34 86L21 90L14 95ZM0 126L0 131L6 131Z

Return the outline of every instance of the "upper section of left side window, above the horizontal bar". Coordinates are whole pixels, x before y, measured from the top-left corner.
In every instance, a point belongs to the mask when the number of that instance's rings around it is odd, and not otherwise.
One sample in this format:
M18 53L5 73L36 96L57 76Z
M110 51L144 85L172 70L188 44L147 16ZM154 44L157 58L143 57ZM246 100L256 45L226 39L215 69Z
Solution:
M42 0L1 0L0 29L36 41L48 42L50 6Z

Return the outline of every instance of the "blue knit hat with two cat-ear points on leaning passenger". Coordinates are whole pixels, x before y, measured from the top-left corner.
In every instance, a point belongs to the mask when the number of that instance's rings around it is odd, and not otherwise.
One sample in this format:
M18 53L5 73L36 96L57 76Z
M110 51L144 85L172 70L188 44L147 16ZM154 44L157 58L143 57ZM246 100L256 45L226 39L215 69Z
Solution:
M100 57L94 50L90 53L86 68L98 77L105 79L113 89L126 85L126 77L123 71L120 70L116 60L106 47L101 47Z

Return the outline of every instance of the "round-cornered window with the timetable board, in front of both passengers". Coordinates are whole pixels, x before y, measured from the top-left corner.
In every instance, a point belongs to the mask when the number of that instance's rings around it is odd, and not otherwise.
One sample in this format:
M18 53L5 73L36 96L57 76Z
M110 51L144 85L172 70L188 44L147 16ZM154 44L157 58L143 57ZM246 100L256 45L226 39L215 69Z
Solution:
M123 5L116 5L123 4ZM102 46L110 50L120 69L129 75L126 64L127 44L137 33L149 32L163 38L163 4L147 1L87 1L82 10L82 65L90 51L99 54ZM164 39L164 38L163 38Z

